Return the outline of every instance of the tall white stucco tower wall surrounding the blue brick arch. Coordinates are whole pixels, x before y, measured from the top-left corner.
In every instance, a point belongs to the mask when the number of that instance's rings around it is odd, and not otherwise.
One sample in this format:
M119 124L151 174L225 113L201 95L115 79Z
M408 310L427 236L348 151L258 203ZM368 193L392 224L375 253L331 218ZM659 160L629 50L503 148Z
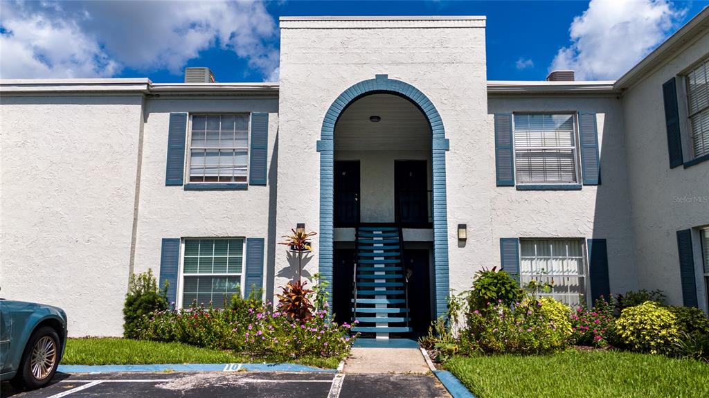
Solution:
M386 19L386 18L382 18ZM462 290L474 273L473 245L457 246L456 224L484 224L489 208L471 198L477 183L493 185L480 159L491 160L491 125L486 106L484 19L457 21L281 21L279 201L277 231L297 222L320 225L320 139L330 104L359 81L388 74L425 93L441 115L451 150L447 152L448 235L451 288ZM304 89L307 88L307 89ZM336 140L336 138L335 138ZM307 189L299 183L307 178ZM281 199L282 198L282 199ZM297 201L296 201L297 198ZM476 231L472 239L489 239ZM306 270L318 270L316 256ZM482 254L484 255L484 254ZM276 266L287 268L285 250ZM277 278L276 285L286 283Z

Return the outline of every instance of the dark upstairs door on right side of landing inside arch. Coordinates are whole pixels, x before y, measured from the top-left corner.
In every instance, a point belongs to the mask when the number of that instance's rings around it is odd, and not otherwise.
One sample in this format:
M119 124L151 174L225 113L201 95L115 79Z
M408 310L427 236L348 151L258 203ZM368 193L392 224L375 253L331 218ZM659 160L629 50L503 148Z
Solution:
M425 160L394 162L396 221L410 226L428 224L428 166Z

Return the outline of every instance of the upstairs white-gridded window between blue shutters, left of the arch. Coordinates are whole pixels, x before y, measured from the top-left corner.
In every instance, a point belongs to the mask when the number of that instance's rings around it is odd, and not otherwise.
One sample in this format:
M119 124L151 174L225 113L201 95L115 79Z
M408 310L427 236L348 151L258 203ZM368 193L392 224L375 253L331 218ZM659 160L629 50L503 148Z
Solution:
M193 115L189 181L246 183L249 115Z

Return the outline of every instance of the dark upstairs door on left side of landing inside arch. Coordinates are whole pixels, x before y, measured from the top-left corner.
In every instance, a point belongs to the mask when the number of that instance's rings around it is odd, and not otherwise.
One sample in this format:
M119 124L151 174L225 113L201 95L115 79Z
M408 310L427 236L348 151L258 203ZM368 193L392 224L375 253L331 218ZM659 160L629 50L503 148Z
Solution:
M359 223L359 161L335 161L335 227Z

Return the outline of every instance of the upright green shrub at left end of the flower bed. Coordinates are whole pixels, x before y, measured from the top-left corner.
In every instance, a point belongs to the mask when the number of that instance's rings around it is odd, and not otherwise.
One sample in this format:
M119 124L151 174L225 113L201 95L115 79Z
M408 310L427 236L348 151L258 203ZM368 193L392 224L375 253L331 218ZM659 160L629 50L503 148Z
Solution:
M152 270L130 275L128 294L123 305L123 337L137 339L145 329L147 317L167 309L167 285L161 290Z

